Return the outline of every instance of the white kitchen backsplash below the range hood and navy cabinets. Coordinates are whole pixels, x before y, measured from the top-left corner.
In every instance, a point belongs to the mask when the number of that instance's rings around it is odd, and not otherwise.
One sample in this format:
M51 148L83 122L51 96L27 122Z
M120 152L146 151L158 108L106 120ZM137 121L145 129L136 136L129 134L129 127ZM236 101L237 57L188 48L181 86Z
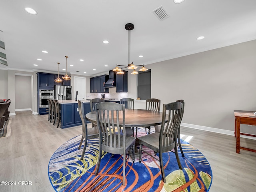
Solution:
M122 99L127 98L128 93L117 93L116 87L108 88L109 93L105 93L106 99ZM86 99L101 98L102 93L86 93Z

